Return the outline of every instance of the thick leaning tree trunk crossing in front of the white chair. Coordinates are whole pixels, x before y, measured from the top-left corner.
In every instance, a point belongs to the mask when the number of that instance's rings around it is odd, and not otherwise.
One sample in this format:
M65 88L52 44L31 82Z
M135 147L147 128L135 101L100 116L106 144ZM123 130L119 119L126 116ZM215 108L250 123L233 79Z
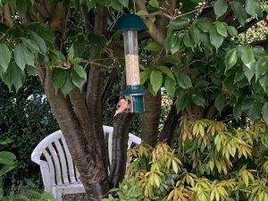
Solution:
M51 83L52 71L49 69L39 67L38 75L55 118L63 130L73 161L80 172L80 180L84 184L88 200L101 200L106 197L109 190L106 167L102 163L101 155L96 152L94 140L88 141L81 128L80 118L76 115L80 113L76 105L80 101L71 103L70 98L65 98L61 92L55 93ZM76 113L73 108L77 108ZM90 133L89 137L91 137Z

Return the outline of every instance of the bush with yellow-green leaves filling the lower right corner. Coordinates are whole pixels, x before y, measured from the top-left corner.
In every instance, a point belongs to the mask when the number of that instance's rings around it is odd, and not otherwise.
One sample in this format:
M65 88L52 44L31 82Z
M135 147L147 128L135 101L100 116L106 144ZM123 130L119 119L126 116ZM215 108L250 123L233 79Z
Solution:
M114 196L105 200L267 201L268 127L229 130L219 121L183 121L179 148L139 145Z

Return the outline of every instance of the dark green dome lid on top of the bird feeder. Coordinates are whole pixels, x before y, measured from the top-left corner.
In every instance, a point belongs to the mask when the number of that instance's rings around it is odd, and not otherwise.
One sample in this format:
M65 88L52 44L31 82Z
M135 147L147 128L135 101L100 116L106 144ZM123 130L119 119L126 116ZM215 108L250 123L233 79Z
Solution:
M122 14L113 22L110 31L146 30L147 26L137 14Z

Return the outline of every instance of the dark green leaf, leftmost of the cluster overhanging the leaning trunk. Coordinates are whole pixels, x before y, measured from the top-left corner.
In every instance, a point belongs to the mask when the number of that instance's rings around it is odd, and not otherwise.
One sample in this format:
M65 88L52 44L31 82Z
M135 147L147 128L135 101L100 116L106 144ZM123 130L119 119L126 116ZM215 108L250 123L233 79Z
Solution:
M63 87L67 78L67 71L60 68L54 68L52 71L52 83L54 90L57 92L59 88Z

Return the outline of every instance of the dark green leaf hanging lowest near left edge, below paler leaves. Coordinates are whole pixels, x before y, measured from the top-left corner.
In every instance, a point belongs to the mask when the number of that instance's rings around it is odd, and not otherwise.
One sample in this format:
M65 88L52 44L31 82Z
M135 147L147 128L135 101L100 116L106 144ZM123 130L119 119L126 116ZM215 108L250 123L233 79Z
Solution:
M16 88L16 91L21 88L24 79L25 76L23 72L21 71L19 66L13 61L9 63L7 71L2 74L2 80L4 81L4 84L6 84L9 89L14 86Z

